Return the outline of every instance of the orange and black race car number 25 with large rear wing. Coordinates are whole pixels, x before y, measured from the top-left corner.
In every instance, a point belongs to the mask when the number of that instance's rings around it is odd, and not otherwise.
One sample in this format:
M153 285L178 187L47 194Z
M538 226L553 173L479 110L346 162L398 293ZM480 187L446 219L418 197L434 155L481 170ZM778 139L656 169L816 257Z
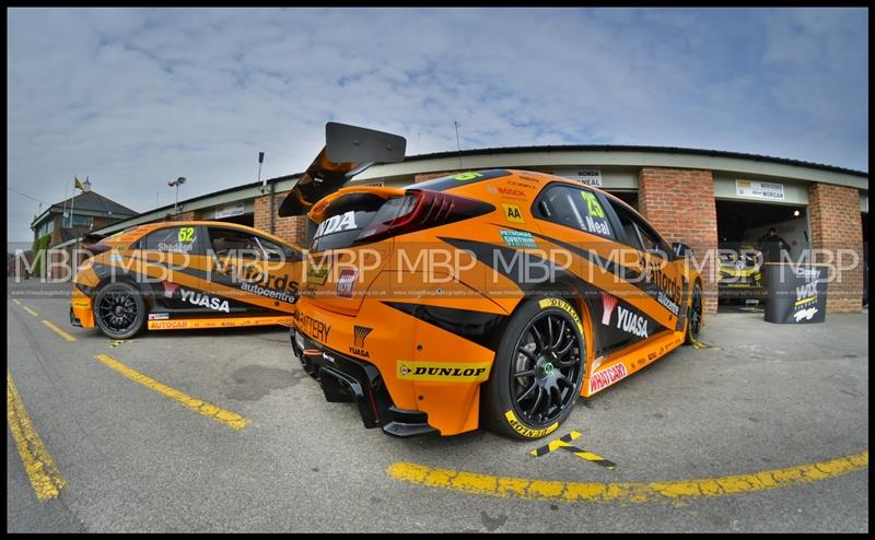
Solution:
M317 224L291 341L329 401L396 436L542 437L702 327L690 248L578 181L525 171L339 189L404 139L329 124L280 207ZM339 189L339 190L338 190Z

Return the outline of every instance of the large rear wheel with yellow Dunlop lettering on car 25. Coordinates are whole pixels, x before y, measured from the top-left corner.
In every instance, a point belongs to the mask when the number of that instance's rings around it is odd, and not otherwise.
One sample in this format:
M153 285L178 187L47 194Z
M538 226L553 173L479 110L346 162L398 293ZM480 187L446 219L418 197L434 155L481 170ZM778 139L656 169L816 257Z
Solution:
M508 321L483 385L482 424L513 438L552 433L580 396L585 361L583 325L571 304L526 302Z

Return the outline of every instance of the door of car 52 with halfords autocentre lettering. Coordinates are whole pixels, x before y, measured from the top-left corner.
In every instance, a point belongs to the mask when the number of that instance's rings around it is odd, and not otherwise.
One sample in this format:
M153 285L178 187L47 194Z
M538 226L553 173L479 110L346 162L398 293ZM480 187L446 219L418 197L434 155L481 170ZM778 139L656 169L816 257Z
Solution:
M254 232L207 226L211 291L231 315L287 315L298 301L301 254Z

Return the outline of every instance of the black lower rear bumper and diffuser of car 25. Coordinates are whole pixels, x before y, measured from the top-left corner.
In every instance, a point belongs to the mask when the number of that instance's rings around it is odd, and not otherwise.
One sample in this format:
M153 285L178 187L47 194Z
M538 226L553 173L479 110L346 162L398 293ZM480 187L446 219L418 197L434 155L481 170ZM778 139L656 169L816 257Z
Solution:
M332 351L292 328L292 351L312 377L319 381L330 402L354 402L365 427L382 427L396 437L410 437L438 430L428 415L395 407L373 364Z

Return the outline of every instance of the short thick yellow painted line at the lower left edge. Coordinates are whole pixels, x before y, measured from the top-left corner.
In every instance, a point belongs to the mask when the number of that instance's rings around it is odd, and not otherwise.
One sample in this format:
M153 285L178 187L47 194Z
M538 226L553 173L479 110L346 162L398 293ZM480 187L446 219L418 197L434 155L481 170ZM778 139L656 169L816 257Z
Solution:
M48 501L57 497L60 490L67 486L67 482L61 478L46 445L34 430L9 369L7 369L7 423L24 463L24 472L34 486L36 498Z

